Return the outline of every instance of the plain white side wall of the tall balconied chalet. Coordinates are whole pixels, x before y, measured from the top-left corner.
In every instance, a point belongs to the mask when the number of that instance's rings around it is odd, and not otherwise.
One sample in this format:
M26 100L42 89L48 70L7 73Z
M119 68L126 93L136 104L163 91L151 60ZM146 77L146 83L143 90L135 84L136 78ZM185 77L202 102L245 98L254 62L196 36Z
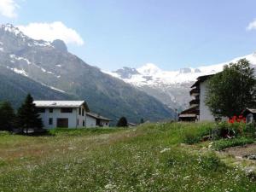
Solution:
M200 121L214 121L214 117L207 107L206 101L206 93L207 93L207 81L204 81L200 84Z

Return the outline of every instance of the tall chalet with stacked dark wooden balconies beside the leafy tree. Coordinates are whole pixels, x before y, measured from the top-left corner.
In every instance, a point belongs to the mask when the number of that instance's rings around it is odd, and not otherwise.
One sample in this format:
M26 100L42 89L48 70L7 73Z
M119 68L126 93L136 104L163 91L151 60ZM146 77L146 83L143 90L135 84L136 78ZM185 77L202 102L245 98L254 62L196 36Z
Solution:
M212 76L201 76L191 86L190 96L194 98L189 102L189 108L178 114L180 121L213 121L215 119L205 103L207 79Z

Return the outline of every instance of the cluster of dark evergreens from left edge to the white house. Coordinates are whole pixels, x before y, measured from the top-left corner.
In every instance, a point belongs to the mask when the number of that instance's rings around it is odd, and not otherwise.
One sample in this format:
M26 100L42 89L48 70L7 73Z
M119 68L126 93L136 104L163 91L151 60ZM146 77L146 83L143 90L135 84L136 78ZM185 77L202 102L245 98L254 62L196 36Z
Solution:
M28 94L20 108L15 112L10 102L0 103L0 131L27 133L30 129L42 130L43 122L33 98Z

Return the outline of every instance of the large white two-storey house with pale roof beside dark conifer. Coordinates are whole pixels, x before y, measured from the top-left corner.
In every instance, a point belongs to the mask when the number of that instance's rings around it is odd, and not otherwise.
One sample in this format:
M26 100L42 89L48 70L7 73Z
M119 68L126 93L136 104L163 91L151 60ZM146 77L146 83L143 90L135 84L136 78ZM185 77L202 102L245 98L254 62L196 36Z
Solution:
M46 129L96 127L90 125L87 115L90 110L84 101L34 101L34 104Z

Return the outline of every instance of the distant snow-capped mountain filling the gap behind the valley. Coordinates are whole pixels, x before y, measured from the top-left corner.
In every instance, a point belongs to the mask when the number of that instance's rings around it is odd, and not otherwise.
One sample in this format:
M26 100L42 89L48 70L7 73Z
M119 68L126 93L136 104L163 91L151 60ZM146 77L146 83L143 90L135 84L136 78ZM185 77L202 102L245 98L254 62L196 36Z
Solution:
M117 71L106 73L138 87L171 108L183 109L187 107L190 100L190 86L199 76L221 72L224 65L242 58L250 61L253 67L256 66L256 53L253 53L216 65L187 67L177 71L161 70L156 65L148 63L137 69L123 67Z

